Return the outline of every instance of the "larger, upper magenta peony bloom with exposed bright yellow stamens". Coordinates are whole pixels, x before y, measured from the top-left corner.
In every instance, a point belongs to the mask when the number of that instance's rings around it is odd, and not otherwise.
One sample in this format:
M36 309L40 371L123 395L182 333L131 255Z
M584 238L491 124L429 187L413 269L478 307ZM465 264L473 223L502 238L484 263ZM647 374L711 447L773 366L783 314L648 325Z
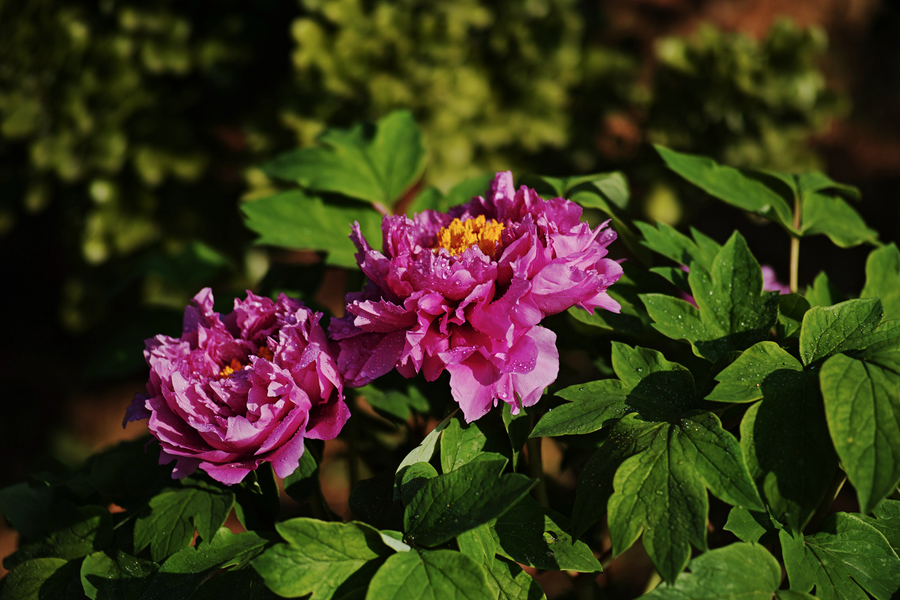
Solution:
M338 366L361 386L396 367L434 381L447 370L466 421L498 400L532 406L559 371L556 335L539 323L580 306L619 312L606 289L622 275L604 258L616 234L592 230L581 207L541 199L498 173L487 198L449 213L385 217L384 250L355 226L357 262L369 278L332 320Z

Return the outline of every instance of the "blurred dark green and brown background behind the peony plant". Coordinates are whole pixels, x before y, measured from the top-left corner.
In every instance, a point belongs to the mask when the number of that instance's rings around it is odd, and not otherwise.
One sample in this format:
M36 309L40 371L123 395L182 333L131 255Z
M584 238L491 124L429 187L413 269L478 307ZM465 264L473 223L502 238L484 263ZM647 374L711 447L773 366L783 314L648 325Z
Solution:
M648 142L822 169L897 239L898 40L890 0L0 0L0 485L115 439L142 340L199 288L227 300L298 259L253 247L238 205L326 125L410 109L443 189L622 169L633 216L720 241L746 219ZM749 225L786 278L787 240ZM816 244L801 284L858 290L866 250Z

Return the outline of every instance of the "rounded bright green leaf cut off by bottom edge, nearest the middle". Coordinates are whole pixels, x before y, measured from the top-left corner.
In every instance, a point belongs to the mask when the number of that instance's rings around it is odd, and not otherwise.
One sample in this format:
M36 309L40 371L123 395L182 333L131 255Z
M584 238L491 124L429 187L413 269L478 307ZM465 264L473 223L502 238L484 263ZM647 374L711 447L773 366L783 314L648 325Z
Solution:
M369 584L367 600L496 600L485 570L453 550L400 552Z

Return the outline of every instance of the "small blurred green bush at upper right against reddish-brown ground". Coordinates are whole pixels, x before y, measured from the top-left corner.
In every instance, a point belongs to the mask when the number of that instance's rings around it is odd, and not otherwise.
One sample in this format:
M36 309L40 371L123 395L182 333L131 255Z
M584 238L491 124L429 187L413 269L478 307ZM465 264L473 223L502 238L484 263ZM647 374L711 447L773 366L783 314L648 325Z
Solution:
M660 40L649 138L736 167L820 167L809 136L839 109L816 64L826 43L788 21L759 42L709 26Z

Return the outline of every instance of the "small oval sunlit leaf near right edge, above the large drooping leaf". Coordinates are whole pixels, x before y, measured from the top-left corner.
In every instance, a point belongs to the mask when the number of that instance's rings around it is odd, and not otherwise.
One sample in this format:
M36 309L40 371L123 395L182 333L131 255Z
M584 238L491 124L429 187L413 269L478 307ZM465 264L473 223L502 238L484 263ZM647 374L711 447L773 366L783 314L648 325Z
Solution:
M864 348L883 315L877 298L814 306L803 316L800 359L810 365L838 352Z

